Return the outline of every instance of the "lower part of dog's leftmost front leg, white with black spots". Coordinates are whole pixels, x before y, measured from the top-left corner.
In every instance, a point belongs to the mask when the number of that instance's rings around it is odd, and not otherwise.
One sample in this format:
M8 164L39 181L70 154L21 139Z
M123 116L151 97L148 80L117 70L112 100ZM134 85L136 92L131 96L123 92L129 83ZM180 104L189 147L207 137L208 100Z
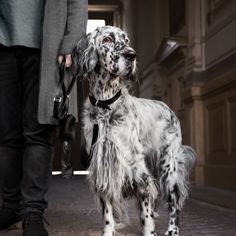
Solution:
M113 209L110 199L101 199L103 207L103 236L114 236L115 235L115 220L113 217Z

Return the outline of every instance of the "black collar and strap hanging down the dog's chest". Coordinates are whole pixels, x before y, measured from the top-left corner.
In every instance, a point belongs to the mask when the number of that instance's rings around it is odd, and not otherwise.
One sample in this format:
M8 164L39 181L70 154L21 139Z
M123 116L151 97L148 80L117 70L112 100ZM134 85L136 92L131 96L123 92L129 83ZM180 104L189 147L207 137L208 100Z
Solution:
M119 92L114 97L107 99L107 100L96 100L96 98L94 96L89 96L89 100L93 106L98 106L103 109L111 110L109 105L111 105L113 102L115 102L120 96L121 96L121 90L119 90ZM92 159L92 154L93 154L92 147L97 142L98 133L99 133L99 126L98 126L98 124L94 124L92 144L91 144L88 162L90 162Z

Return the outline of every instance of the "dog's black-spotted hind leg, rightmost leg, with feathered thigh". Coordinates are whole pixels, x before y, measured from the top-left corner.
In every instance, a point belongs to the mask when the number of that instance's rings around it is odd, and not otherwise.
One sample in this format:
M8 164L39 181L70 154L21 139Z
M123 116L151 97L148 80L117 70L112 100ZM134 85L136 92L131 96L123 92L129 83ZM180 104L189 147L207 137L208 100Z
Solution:
M194 161L194 152L187 146L175 142L161 157L160 186L169 204L170 219L166 236L179 236L179 212L188 196L188 177Z

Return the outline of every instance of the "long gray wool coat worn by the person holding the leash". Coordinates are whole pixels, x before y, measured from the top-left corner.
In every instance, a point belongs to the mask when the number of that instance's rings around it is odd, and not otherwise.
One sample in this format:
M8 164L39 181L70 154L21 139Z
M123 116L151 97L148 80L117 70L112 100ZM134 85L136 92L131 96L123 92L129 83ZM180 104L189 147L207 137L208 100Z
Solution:
M58 91L57 57L70 54L86 33L87 6L87 0L46 0L38 106L38 121L41 124L57 123L53 119L53 99ZM70 94L69 113L78 117L76 85Z

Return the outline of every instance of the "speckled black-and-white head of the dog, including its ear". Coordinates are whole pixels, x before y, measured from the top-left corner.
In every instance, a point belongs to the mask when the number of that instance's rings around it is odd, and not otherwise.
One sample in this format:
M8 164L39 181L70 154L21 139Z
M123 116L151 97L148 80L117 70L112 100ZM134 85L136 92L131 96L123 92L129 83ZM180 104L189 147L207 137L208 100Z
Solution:
M136 53L129 43L127 34L120 28L97 28L82 38L73 50L76 76L85 78L96 67L102 67L116 77L134 80Z

